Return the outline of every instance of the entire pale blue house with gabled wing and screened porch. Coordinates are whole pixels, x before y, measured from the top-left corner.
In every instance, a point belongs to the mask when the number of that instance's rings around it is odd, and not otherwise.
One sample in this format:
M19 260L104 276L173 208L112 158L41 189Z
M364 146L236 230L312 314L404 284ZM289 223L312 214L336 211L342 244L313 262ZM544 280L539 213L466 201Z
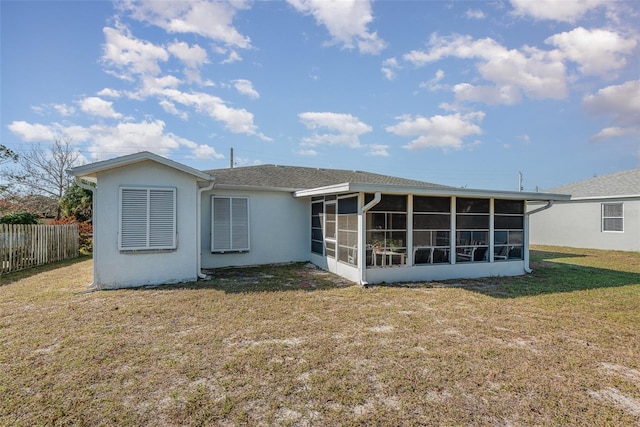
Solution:
M529 271L528 201L361 171L198 171L141 152L69 171L94 194L94 286L194 281L203 269L310 261L353 282Z

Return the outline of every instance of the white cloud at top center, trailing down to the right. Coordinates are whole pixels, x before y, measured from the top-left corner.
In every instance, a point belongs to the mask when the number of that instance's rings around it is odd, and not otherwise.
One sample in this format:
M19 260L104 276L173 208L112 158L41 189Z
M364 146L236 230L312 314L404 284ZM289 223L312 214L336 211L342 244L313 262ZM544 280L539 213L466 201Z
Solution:
M287 0L298 12L313 15L316 23L324 25L332 43L341 43L347 49L358 48L360 53L378 54L385 47L376 32L369 32L373 21L371 2L368 0Z

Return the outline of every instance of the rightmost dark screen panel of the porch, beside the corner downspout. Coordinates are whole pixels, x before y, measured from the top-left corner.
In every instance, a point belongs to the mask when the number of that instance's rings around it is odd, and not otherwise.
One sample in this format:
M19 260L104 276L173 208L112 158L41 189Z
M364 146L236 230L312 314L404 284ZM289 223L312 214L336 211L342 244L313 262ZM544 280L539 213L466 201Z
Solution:
M496 261L522 259L524 202L496 199L493 207L493 259Z

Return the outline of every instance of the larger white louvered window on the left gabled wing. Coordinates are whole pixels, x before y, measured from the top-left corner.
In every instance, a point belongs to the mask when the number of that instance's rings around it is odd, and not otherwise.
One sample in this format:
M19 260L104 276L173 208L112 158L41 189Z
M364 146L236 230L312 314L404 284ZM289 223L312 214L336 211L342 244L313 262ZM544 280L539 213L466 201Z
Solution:
M120 187L118 249L175 249L176 189Z

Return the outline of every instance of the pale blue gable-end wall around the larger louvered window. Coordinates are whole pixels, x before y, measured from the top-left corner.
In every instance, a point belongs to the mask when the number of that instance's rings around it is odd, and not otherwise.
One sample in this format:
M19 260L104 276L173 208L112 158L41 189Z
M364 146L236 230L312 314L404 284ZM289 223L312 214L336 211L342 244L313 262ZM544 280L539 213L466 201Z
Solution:
M176 188L177 249L118 250L119 188L140 185ZM94 206L94 285L114 289L197 279L196 179L147 161L98 174Z

